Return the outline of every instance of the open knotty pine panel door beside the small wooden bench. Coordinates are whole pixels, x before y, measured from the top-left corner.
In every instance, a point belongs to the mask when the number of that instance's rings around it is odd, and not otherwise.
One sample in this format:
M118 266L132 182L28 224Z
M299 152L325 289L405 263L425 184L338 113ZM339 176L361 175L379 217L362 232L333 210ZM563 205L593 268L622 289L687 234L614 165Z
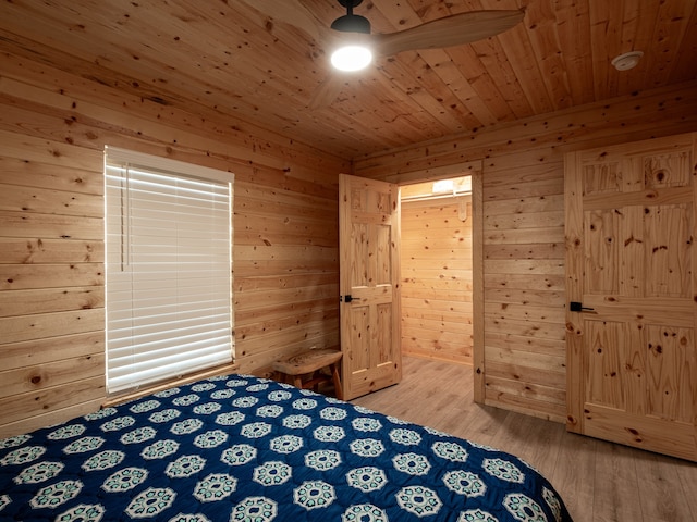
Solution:
M344 399L402 378L400 192L339 176L341 349Z

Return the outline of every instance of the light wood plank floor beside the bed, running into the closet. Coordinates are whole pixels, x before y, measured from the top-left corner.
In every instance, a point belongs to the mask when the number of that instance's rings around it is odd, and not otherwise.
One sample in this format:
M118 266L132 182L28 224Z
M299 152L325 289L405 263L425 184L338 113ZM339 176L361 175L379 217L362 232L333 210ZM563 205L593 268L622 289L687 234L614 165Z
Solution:
M575 522L697 522L697 464L482 407L472 394L470 368L404 358L402 383L352 402L517 455L550 480Z

